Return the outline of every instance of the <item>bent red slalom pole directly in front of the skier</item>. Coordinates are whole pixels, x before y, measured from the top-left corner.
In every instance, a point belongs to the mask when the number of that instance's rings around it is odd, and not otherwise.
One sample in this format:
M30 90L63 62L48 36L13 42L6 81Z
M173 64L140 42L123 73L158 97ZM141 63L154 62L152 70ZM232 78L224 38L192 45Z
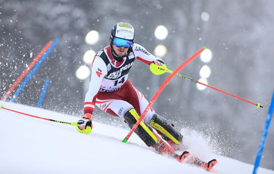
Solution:
M167 77L167 79L164 81L164 83L161 85L161 87L158 89L156 94L153 96L151 101L148 103L147 107L145 108L144 112L141 114L139 120L134 124L128 135L124 138L122 141L123 143L126 143L130 136L133 134L133 132L136 130L137 126L140 124L140 122L143 120L145 114L148 112L148 110L151 108L154 101L158 98L160 93L163 91L164 87L167 85L167 83L181 70L183 69L187 64L189 64L194 58L196 58L203 50L206 50L206 47L201 48L196 53L194 53L190 58L188 58L185 62L183 62L171 75Z

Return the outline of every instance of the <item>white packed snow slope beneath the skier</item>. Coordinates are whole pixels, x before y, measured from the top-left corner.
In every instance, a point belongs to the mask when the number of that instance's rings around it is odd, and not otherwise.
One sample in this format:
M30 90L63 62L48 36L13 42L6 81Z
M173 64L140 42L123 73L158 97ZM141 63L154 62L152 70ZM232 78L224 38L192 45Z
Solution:
M64 122L79 118L0 101L4 107ZM129 130L93 122L91 134L79 133L69 124L60 124L0 110L0 174L209 174L156 154L134 134L121 141ZM206 161L219 163L216 174L251 174L253 165L210 152L199 137L186 137L189 151ZM188 139L188 141L187 141ZM202 148L201 148L202 147ZM192 151L191 151L192 150ZM199 150L201 152L199 152ZM274 174L259 168L258 174Z

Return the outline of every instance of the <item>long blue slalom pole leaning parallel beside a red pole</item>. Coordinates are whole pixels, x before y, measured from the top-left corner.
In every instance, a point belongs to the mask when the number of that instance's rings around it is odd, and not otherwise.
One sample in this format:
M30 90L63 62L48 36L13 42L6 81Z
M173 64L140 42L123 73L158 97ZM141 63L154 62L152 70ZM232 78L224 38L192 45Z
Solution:
M22 89L26 86L28 80L31 78L32 75L34 75L34 73L36 72L36 70L41 66L41 64L43 63L43 61L47 58L47 56L51 52L51 50L53 50L53 48L55 47L55 45L57 44L58 41L59 41L59 39L56 38L54 40L53 44L51 45L51 47L45 52L45 54L43 55L43 57L37 62L37 64L35 65L35 67L27 75L26 79L23 81L23 83L21 84L21 86L17 89L17 91L15 92L15 94L12 96L12 98L10 100L11 102L14 101L14 99L17 98L17 96L20 94L20 92L22 91Z

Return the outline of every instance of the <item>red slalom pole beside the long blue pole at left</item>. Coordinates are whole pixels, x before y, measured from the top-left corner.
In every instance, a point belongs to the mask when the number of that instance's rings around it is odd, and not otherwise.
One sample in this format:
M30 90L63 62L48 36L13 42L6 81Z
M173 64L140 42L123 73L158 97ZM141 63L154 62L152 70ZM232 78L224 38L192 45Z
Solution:
M10 93L16 88L16 86L21 82L21 80L27 75L27 73L32 69L32 67L37 63L37 61L42 57L42 55L50 48L53 41L51 40L46 44L46 46L36 55L36 57L31 61L31 63L27 66L27 68L23 71L23 73L17 78L17 80L11 85L6 94L1 98L1 100L5 100Z

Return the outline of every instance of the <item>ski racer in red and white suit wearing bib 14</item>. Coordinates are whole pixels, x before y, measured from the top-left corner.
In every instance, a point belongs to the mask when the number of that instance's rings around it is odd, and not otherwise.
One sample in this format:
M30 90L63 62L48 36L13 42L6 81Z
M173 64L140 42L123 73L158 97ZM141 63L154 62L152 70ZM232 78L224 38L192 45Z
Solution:
M110 45L95 55L90 84L84 99L84 115L78 121L80 132L91 132L95 105L110 115L122 118L130 128L148 105L147 99L129 81L128 74L136 59L148 65L154 63L158 66L164 65L164 61L134 43L134 33L132 25L117 23L111 29ZM156 129L165 141L152 128ZM152 108L137 126L135 133L159 154L172 156L179 162L189 155L188 152L182 155L174 152L173 149L178 149L182 143L183 135Z

